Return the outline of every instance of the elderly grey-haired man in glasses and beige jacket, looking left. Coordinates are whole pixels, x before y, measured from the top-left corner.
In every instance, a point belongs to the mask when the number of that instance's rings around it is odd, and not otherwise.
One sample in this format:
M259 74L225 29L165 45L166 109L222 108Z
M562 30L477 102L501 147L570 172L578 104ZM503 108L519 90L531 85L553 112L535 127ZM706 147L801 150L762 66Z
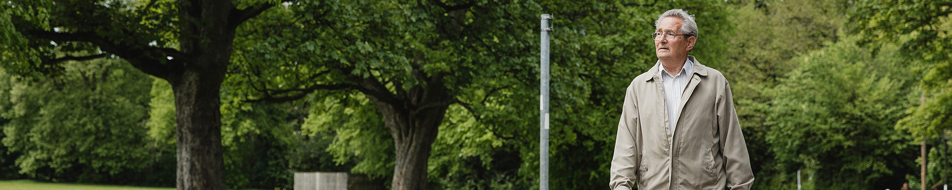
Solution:
M655 21L658 62L625 91L611 161L611 189L750 189L747 145L721 72L687 55L694 17L667 10Z

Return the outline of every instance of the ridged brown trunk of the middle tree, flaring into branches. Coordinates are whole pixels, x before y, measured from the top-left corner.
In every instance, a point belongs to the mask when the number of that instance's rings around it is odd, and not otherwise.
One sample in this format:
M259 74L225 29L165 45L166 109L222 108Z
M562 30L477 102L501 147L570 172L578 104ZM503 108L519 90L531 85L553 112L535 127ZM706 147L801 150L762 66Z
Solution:
M392 190L426 190L429 151L452 99L436 78L426 87L407 90L399 104L367 96L383 115L396 148Z

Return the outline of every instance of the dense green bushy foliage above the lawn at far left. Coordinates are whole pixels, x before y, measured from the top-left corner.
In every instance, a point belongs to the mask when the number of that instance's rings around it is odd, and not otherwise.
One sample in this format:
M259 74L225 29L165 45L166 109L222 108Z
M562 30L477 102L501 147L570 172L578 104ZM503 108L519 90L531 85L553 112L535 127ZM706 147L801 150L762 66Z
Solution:
M145 167L149 78L116 59L63 66L64 75L34 83L3 74L3 144L21 154L18 172L89 182Z

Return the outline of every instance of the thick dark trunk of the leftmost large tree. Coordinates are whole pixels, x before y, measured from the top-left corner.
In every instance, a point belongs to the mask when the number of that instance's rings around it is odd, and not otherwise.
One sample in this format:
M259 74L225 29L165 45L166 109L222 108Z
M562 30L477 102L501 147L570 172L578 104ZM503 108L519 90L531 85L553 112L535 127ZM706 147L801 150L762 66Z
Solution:
M180 0L179 51L186 64L166 80L175 92L176 188L224 190L219 90L231 57L234 28L228 0Z

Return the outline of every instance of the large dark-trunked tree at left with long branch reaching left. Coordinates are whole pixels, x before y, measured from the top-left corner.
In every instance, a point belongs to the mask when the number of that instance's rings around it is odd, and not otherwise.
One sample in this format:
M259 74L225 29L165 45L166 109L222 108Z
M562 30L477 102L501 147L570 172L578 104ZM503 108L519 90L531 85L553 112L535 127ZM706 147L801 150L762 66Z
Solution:
M177 188L225 189L219 94L235 28L277 4L6 1L0 3L2 61L11 72L35 76L55 73L65 60L116 56L168 81L175 94ZM77 51L55 54L55 46Z

